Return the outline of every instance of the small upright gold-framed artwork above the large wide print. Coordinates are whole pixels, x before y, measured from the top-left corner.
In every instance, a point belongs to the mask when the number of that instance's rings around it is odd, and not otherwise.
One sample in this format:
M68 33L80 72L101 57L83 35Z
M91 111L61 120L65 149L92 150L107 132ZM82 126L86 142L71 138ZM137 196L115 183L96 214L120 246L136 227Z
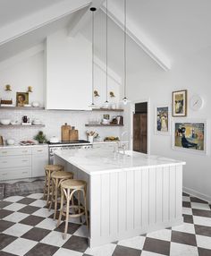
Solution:
M187 116L187 90L173 91L173 116Z

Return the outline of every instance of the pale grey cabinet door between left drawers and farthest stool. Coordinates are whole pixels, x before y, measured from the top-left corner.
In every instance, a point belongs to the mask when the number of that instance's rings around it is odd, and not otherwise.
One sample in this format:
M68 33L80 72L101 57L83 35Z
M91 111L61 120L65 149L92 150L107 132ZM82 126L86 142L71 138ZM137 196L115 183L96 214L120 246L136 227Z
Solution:
M32 177L45 176L44 167L48 164L47 154L32 155Z

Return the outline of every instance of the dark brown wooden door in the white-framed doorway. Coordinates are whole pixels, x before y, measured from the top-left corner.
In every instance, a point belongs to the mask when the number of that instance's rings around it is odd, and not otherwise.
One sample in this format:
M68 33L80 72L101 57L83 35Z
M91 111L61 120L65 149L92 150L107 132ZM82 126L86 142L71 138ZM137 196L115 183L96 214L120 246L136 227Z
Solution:
M148 114L133 115L133 150L148 152Z

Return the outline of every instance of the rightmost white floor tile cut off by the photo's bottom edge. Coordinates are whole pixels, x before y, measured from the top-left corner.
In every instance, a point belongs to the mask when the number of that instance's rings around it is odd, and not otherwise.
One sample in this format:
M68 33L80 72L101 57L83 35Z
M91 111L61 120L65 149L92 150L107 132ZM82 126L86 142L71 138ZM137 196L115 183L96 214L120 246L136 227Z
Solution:
M181 244L181 243L171 243L170 247L171 256L198 256L197 247Z

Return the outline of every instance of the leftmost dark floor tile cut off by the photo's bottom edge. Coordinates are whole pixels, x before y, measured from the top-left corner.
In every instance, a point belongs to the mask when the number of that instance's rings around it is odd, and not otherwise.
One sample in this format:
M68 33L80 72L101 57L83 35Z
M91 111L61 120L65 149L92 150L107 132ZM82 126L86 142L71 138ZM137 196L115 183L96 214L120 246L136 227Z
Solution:
M53 245L38 243L24 256L52 256L58 249L59 247Z

